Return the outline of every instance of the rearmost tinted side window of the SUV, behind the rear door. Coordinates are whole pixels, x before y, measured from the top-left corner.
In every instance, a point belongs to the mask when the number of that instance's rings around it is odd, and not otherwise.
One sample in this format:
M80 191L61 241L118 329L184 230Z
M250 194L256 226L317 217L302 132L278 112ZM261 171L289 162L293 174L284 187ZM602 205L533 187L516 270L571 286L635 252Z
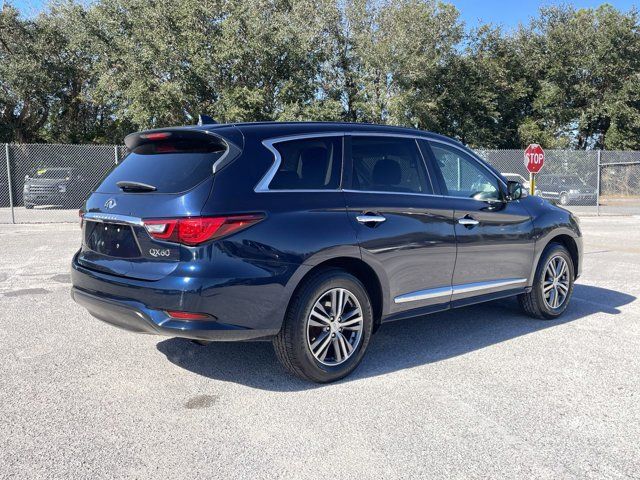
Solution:
M335 190L342 170L342 137L278 142L280 166L269 190Z

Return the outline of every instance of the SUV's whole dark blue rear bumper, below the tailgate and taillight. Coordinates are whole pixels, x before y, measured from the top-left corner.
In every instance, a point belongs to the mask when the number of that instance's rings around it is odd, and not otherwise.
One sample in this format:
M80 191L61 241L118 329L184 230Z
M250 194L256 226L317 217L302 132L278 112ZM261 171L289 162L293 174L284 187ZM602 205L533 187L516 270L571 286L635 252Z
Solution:
M258 269L247 261L227 261L232 267L227 271L223 260L180 262L170 274L149 281L88 269L76 254L71 295L94 317L129 331L212 341L275 336L297 267ZM167 310L206 313L212 320L177 320Z

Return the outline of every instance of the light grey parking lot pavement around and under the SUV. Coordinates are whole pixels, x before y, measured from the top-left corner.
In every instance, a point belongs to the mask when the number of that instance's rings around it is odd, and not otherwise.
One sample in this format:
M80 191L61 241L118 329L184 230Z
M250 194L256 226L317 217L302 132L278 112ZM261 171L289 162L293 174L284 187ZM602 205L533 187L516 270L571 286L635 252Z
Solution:
M0 225L1 478L639 478L638 218L582 220L564 317L397 322L336 384L270 343L136 335L69 297L74 224Z

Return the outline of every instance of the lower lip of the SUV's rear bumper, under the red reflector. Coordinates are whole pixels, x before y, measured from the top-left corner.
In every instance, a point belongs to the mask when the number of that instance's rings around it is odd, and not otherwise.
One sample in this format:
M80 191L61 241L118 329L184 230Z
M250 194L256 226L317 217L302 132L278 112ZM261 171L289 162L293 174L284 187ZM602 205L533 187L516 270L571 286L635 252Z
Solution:
M71 298L98 320L135 333L212 341L260 340L278 333L277 330L256 330L213 320L176 320L162 310L147 308L139 302L96 295L76 287L71 289Z

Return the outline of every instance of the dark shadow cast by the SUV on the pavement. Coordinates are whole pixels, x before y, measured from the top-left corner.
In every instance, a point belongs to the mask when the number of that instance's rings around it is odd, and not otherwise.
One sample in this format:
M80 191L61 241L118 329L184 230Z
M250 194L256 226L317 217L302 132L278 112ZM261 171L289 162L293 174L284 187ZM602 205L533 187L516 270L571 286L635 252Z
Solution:
M362 364L342 381L438 362L595 313L616 315L618 307L635 299L626 293L577 284L569 309L553 321L532 319L520 311L515 299L505 299L388 323L373 336ZM321 387L289 375L278 363L270 342L200 346L171 338L158 343L157 348L175 365L216 380L273 391Z

